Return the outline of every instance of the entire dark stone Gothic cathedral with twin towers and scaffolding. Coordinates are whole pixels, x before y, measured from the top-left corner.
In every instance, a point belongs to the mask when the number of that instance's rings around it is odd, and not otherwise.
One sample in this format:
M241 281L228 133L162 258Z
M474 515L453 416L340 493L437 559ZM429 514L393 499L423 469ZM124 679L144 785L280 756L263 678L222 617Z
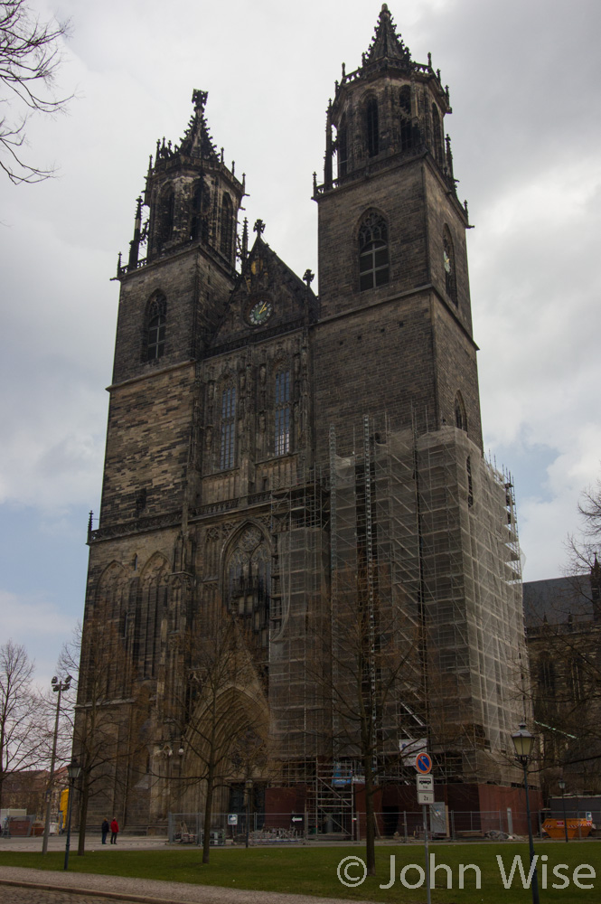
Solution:
M266 824L348 834L367 769L392 832L421 750L449 808L517 805L519 546L483 453L449 90L382 5L327 108L318 294L239 221L206 104L157 144L117 266L74 748L90 821L159 827L211 776L215 812L250 781Z

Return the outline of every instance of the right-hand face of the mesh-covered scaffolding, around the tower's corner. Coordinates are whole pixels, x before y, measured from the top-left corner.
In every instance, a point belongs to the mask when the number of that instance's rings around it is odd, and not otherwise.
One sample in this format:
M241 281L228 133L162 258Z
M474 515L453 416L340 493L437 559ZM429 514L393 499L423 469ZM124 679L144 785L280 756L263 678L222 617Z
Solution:
M457 428L416 446L432 749L449 779L502 782L524 655L511 481Z

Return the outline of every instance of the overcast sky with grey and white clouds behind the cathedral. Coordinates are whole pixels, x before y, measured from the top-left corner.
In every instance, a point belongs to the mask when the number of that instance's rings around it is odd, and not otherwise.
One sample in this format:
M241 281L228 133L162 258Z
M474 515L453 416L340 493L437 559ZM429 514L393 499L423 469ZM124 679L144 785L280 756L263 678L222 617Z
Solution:
M246 215L297 274L317 272L312 174L343 61L357 68L379 0L64 0L68 116L28 154L58 177L0 178L5 327L0 642L50 680L82 613L98 513L118 284L157 137L178 141L193 89L247 175ZM513 473L524 579L557 577L601 458L599 0L392 0L413 59L450 89L467 199L485 448ZM314 284L315 286L315 284Z

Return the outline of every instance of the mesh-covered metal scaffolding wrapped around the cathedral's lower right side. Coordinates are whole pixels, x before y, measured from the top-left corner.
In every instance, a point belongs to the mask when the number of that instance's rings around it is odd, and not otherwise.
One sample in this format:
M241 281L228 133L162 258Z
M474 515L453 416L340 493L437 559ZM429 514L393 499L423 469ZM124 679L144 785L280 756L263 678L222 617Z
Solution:
M511 476L459 428L417 436L365 416L354 436L340 448L330 428L324 472L271 503L269 683L282 781L305 783L310 822L340 826L352 783L336 784L336 770L356 774L361 757L352 718L336 706L351 687L350 607L363 618L380 782L407 780L403 747L427 744L439 780L509 784L525 652ZM382 702L387 650L406 667Z

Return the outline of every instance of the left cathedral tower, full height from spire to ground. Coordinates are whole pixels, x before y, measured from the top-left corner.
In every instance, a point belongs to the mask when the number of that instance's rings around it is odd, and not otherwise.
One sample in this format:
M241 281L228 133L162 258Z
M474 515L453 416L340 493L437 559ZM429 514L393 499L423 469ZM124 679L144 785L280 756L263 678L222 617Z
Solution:
M201 497L202 363L237 278L244 183L213 145L206 99L193 92L179 145L157 142L127 263L119 256L101 508L89 524L75 750L85 787L112 776L90 806L112 810L110 786L127 787L114 808L129 824L164 816L156 763L181 744L168 713L197 611L189 521ZM90 727L96 710L102 724Z

